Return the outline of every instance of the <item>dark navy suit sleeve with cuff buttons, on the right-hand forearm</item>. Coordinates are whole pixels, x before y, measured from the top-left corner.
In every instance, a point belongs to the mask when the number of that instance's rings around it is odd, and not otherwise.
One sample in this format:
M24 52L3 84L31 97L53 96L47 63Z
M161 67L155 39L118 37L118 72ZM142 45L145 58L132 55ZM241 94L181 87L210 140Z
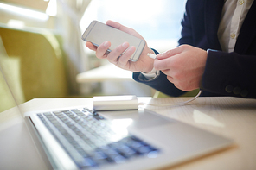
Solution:
M256 98L256 56L208 50L202 90L240 98Z

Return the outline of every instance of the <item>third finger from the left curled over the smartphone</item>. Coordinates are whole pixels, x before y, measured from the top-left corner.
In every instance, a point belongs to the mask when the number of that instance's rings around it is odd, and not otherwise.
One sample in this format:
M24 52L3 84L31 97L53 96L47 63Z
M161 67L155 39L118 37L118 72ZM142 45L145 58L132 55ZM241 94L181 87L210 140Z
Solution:
M123 54L128 47L129 47L129 43L124 42L123 44L113 49L112 52L108 54L107 59L115 65L118 64L118 57L121 54Z

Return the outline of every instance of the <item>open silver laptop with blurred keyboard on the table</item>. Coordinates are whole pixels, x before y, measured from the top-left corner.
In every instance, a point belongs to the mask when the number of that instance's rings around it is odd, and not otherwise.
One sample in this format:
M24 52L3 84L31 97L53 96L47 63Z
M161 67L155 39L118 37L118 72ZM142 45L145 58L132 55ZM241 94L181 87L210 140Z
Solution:
M0 68L10 87L1 64ZM50 169L159 169L234 143L151 110L93 111L90 107L21 110Z

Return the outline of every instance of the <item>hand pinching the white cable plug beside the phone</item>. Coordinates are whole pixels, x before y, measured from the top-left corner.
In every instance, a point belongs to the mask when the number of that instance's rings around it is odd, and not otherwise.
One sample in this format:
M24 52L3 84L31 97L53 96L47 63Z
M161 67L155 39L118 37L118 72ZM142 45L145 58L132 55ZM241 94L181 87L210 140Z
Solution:
M167 75L167 79L182 91L200 87L207 52L197 47L182 45L163 54L157 54L154 67Z

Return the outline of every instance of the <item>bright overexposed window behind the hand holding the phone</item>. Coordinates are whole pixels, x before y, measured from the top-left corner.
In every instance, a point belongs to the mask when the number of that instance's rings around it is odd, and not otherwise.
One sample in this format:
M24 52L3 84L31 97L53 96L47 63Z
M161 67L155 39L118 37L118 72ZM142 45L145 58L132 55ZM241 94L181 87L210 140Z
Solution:
M159 52L176 47L185 0L92 0L80 21L81 33L93 20L120 22L135 29Z

